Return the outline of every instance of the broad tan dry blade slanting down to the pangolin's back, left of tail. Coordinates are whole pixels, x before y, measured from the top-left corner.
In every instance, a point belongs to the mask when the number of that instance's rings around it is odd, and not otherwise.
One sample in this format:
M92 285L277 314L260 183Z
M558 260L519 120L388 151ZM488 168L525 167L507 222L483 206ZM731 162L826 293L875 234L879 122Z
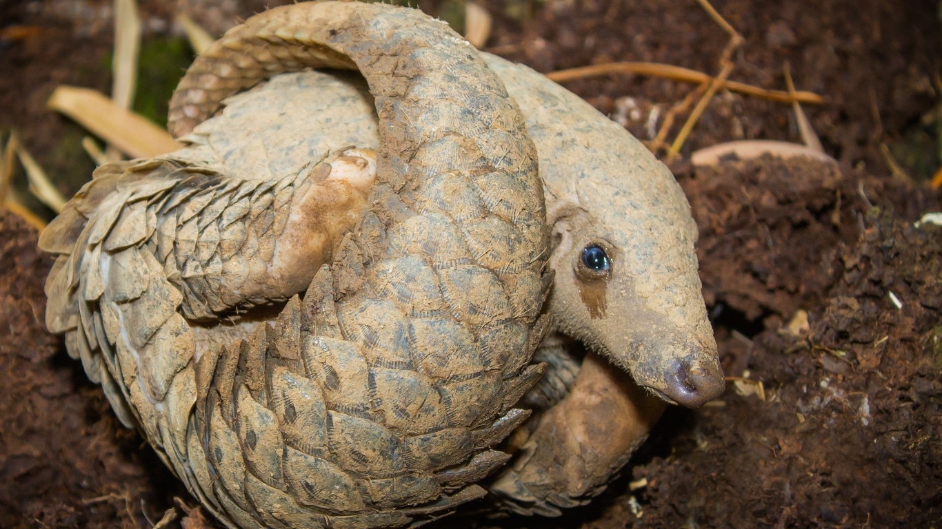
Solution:
M56 88L47 106L78 121L132 158L153 158L183 147L164 129L90 88Z

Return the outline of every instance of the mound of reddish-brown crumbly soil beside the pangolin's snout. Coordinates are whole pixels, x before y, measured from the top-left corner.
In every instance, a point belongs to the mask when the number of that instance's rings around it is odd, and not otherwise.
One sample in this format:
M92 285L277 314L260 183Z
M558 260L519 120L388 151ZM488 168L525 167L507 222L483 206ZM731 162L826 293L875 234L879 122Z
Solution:
M726 374L748 370L764 395L734 386L722 408L678 414L674 453L633 471L648 479L636 527L942 521L942 229L901 211L937 210L939 196L885 185L869 209L860 180L797 165L732 163L684 181L707 297L734 313L714 324L766 316L751 344L718 331ZM789 332L798 307L809 329Z

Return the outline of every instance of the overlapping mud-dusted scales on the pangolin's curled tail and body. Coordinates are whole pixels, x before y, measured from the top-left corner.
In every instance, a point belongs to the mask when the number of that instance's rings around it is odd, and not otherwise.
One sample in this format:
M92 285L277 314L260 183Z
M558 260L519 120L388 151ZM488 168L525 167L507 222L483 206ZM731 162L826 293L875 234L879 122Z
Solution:
M194 101L245 88L235 71L277 72L259 71L272 57L355 63L380 116L368 211L302 300L239 297L226 264L264 262L327 152L275 179L172 154L105 166L43 233L60 254L49 328L230 526L403 525L479 497L471 484L506 460L489 447L527 416L512 405L548 329L541 184L516 105L444 24L388 6L272 9L205 57L171 122L211 115ZM494 185L510 192L492 200Z

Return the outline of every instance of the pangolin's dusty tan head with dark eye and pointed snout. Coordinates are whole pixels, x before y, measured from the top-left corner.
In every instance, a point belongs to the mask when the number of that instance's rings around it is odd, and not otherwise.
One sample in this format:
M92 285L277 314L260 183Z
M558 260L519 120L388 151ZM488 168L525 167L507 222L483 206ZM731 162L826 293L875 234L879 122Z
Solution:
M619 127L620 128L620 127ZM723 370L697 274L697 228L673 174L625 134L587 141L593 160L556 195L550 310L561 331L667 402L723 393Z

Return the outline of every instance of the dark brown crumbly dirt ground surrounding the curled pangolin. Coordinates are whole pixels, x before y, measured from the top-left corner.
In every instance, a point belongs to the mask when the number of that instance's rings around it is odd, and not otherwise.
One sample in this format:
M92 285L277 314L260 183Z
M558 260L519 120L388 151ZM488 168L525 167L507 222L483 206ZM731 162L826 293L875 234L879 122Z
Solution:
M484 4L495 15L487 48L542 72L632 60L715 74L727 40L692 1ZM109 5L0 2L0 132L19 130L64 192L92 165L81 129L44 104L58 84L107 90ZM671 167L700 226L726 393L671 409L592 505L554 520L463 513L463 525L942 527L942 228L913 225L942 211L924 180L939 163L942 8L715 7L746 39L731 78L784 89L788 61L796 88L826 98L804 111L839 163L766 156L693 168L690 152L732 139L801 141L789 105L721 91ZM262 3L141 1L145 45L179 33L179 8L219 31ZM626 75L566 86L643 140L651 112L694 88ZM151 527L173 505L196 505L44 331L51 261L36 237L0 213L0 526ZM197 517L182 525L205 526Z

